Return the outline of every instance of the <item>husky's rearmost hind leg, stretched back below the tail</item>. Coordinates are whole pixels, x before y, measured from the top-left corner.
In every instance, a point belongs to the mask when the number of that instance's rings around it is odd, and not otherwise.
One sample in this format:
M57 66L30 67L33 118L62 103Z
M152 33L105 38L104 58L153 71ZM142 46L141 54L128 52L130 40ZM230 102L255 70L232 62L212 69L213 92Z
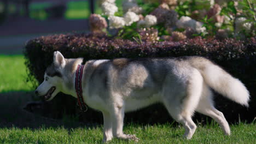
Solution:
M229 123L226 121L222 112L218 111L212 100L212 91L208 86L203 86L203 92L199 104L196 108L197 112L202 113L203 115L212 117L216 122L219 123L225 135L230 135Z

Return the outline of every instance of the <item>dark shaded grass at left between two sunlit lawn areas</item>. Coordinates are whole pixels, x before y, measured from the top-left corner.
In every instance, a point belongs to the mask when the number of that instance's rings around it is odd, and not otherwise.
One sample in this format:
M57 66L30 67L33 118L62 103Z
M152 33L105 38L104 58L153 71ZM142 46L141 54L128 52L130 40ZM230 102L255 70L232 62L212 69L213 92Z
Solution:
M52 119L42 117L24 110L27 103L32 101L33 92L7 92L0 93L0 128L49 128L65 127L67 129L77 127L96 127L96 124L85 124L76 118L65 117Z

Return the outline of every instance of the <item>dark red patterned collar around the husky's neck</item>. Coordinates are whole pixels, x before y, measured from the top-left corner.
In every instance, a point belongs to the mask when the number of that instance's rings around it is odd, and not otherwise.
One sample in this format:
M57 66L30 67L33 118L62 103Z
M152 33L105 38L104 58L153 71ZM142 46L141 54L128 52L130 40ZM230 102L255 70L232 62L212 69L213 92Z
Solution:
M83 77L84 65L78 65L77 71L75 72L75 92L77 92L77 100L82 111L87 111L88 107L84 103L83 88L82 88L82 77Z

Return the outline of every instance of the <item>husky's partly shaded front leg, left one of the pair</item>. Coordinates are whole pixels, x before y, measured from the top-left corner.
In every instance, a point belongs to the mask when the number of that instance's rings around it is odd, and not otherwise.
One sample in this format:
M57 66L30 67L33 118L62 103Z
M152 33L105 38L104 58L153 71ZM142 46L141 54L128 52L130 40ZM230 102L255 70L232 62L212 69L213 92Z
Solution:
M112 140L112 122L111 116L109 112L102 112L103 120L104 120L104 128L103 128L103 143Z

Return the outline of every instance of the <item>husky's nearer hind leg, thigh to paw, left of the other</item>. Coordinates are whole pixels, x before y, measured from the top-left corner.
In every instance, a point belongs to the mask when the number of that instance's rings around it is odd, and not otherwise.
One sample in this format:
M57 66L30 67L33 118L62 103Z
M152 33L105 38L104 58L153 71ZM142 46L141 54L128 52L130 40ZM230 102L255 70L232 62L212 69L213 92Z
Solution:
M180 97L174 99L168 99L165 97L163 100L164 105L172 118L177 122L182 123L185 128L184 137L185 139L191 139L196 130L196 125L192 121L192 116L196 106L199 102L201 92L202 92L202 76L199 71L194 71L191 78L188 81L187 87L182 91L187 91L186 93L181 93ZM167 94L167 93L166 93ZM165 95L166 95L165 94Z

